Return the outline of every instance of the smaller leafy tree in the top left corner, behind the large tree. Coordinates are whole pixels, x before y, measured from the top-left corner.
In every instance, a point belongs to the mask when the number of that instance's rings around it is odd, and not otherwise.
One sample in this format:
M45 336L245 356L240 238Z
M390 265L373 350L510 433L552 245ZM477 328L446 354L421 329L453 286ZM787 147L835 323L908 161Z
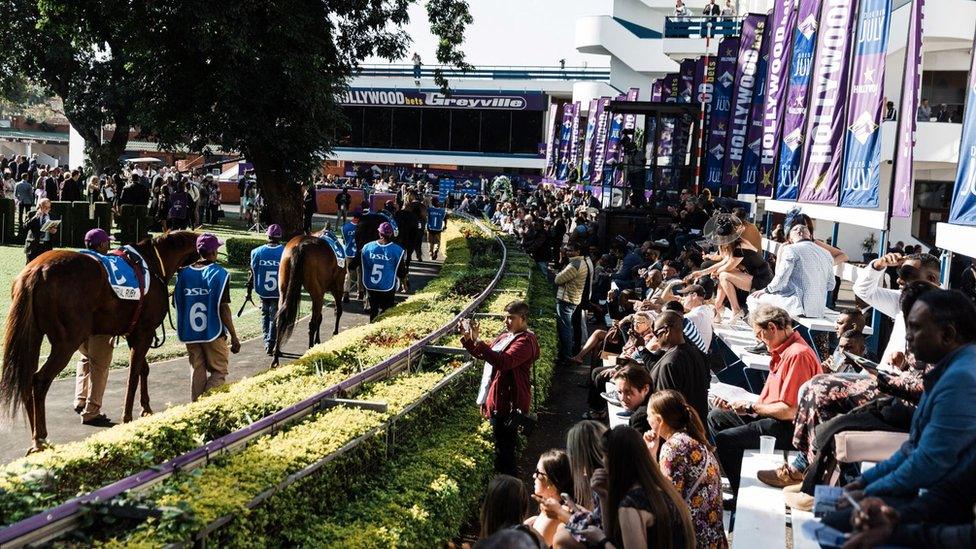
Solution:
M64 103L85 140L92 168L118 164L133 125L137 83L122 48L138 24L122 0L0 0L0 89L16 93L26 79ZM114 125L104 139L102 128Z

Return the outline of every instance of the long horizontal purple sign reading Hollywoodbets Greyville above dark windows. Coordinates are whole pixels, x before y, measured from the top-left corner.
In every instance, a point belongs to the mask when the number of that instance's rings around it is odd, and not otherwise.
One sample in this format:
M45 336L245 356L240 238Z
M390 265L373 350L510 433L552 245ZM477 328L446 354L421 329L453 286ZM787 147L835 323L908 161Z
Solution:
M356 105L361 107L541 111L546 108L546 96L540 92L468 93L456 91L448 97L438 91L350 89L339 94L339 103L345 106Z

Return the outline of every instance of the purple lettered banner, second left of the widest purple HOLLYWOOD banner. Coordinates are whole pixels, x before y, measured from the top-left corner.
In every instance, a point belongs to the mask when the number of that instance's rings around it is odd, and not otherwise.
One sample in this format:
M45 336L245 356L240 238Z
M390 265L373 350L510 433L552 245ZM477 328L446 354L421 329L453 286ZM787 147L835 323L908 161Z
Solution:
M793 30L796 28L795 4L795 0L776 0L766 31L769 53L766 57L766 101L762 116L758 196L773 196L776 181L776 156L783 136L787 74L793 51Z

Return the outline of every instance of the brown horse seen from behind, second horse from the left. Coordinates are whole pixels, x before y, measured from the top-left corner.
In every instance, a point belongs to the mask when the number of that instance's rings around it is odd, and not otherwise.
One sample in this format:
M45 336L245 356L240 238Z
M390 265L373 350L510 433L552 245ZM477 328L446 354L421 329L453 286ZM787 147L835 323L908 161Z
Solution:
M348 259L346 260L348 261ZM335 252L318 236L296 236L285 244L278 268L278 316L275 322L275 348L272 365L278 364L281 345L291 337L298 319L302 286L312 297L312 318L308 325L308 346L322 341L322 302L325 292L332 294L336 323L332 334L339 333L342 318L342 286L346 269L339 266Z

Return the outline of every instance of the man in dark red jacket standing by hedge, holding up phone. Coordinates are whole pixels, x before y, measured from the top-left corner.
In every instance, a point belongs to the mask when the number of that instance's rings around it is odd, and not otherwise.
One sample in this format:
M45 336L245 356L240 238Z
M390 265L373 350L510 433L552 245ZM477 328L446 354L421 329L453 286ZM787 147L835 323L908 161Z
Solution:
M539 342L529 331L529 306L524 301L513 301L505 306L506 331L491 343L478 339L478 324L463 321L461 345L471 356L486 363L478 404L491 421L495 438L495 470L517 475L515 446L518 424L513 421L517 414L528 414L532 405L532 383L529 381L532 365L539 358Z

